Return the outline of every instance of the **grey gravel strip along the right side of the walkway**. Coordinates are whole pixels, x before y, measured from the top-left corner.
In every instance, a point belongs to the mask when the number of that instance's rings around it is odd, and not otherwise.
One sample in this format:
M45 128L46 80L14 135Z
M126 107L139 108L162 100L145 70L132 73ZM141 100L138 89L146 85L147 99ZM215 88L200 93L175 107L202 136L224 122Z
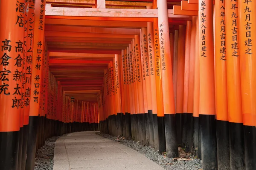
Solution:
M139 141L127 140L123 136L114 137L99 132L96 134L136 150L166 170L201 170L202 168L201 160L191 156L190 153L185 153L181 147L179 147L178 158L168 158L166 153L160 155L154 148L143 146Z

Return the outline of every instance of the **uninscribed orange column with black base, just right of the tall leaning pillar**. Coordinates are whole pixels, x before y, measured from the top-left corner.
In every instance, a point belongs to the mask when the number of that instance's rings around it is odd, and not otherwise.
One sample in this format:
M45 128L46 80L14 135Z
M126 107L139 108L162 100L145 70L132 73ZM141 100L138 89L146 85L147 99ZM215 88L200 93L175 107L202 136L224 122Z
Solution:
M175 30L176 31L176 30ZM178 39L178 40L177 40ZM177 54L174 59L176 77L176 128L177 128L177 143L179 145L182 143L183 137L183 97L184 97L184 66L185 66L185 39L186 39L186 26L180 25L178 30L178 36L175 36L175 41L177 41ZM184 136L186 137L186 136Z

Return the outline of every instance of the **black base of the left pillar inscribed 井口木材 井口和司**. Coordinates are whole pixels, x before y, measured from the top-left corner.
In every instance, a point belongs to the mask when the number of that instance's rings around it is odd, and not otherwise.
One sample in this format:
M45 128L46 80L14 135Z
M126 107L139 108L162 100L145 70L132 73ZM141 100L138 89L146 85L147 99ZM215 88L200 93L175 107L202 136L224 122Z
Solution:
M29 134L26 157L26 170L34 170L35 167L35 152L36 138L38 132L38 116L29 116Z

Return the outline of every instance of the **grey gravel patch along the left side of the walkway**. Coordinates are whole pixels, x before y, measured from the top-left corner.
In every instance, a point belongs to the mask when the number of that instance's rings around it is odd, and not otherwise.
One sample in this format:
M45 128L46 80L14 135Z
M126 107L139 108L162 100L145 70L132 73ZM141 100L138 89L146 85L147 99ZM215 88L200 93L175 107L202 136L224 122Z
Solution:
M67 134L66 134L67 135ZM35 155L34 170L53 170L53 156L55 141L61 136L54 136L45 141L43 147L38 149Z

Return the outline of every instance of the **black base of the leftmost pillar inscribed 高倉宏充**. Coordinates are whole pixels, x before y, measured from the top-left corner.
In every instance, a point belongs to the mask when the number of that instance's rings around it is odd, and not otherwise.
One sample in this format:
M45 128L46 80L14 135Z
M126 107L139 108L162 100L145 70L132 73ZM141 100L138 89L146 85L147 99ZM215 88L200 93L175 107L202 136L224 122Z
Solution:
M20 131L0 132L0 170L17 170Z

